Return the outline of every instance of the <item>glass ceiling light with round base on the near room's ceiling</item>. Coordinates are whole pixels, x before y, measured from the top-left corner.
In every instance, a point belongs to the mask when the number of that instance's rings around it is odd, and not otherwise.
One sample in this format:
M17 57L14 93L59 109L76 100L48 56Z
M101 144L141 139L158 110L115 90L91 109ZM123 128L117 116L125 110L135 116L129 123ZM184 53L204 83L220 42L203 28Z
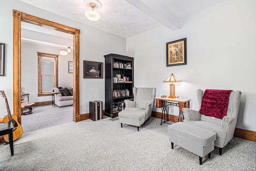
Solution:
M88 20L90 20L90 21L100 20L100 18L101 18L100 13L94 11L94 10L99 10L101 8L100 1L98 1L98 0L84 0L84 5L88 9L92 9L92 10L86 11L84 13L84 15L86 16L86 18L88 18Z

